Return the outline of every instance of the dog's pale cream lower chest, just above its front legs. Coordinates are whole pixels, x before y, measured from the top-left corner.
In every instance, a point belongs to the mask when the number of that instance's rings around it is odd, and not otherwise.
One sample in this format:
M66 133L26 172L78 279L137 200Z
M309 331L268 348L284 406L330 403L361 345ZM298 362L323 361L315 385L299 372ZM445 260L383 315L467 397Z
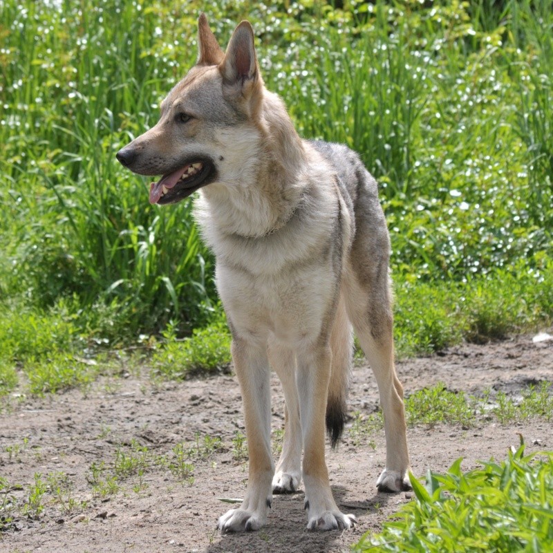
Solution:
M319 264L271 275L218 265L216 279L233 332L294 347L319 337L338 290L332 268Z

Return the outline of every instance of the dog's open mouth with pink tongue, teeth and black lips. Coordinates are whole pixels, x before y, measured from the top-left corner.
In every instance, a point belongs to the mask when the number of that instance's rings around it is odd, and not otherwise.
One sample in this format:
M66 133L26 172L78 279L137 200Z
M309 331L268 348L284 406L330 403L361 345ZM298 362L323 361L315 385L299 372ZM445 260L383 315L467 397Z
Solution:
M150 203L167 204L184 200L192 192L208 185L214 174L214 165L210 160L198 160L187 163L176 171L162 176L158 182L150 185Z

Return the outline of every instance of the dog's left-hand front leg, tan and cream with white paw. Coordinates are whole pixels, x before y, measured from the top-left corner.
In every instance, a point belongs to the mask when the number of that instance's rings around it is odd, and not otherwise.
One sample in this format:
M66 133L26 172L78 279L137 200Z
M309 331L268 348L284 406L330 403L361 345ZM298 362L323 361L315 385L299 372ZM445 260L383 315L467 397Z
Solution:
M244 404L249 477L242 505L221 516L218 527L221 532L244 532L265 525L271 506L270 368L266 347L260 344L235 338L231 350Z

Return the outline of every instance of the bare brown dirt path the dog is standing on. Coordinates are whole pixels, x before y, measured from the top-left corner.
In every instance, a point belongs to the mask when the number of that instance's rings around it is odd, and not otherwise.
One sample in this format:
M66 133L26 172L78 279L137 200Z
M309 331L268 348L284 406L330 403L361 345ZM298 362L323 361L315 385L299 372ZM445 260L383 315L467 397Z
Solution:
M0 552L345 552L364 532L377 532L411 498L375 489L385 462L383 431L362 444L346 431L336 451L328 448L327 462L338 505L357 516L355 529L308 532L300 490L274 496L268 524L259 532L221 535L217 518L232 507L221 498L243 496L247 478L247 460L236 459L232 441L236 431L243 432L236 379L223 374L155 384L147 372L102 377L86 395L72 390L4 406L0 476L10 482L9 495L17 505L26 502L35 473L46 480L48 474L63 472L72 488L62 496L66 508L48 493L37 518L14 509L14 521L0 532ZM483 346L464 344L397 362L397 373L406 395L441 381L451 391L478 395L491 388L491 397L494 391L516 396L528 384L553 381L553 340L534 343L532 337L516 337ZM280 429L283 398L276 377L273 384L273 427ZM377 409L377 388L367 366L353 371L349 404L351 413ZM220 437L224 447L209 456L192 456L194 483L183 485L154 460L170 458L178 443L192 447L196 433L202 440L204 435ZM408 434L413 472L445 471L458 457L464 458L464 470L479 460L503 459L519 443L519 433L527 451L553 449L553 424L543 420L502 426L482 417L470 428L415 426ZM120 478L118 493L93 494L91 465L103 461L113 467L115 452L120 448L130 454L133 440L149 451L142 479ZM0 507L2 500L0 493Z

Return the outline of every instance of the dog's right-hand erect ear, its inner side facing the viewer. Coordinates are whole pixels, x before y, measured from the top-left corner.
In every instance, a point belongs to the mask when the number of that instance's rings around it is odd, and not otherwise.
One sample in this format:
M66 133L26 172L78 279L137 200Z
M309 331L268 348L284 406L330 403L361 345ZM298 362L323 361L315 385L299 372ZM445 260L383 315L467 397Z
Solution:
M219 65L227 85L249 87L259 82L259 66L255 55L254 30L249 21L242 21L234 32Z

